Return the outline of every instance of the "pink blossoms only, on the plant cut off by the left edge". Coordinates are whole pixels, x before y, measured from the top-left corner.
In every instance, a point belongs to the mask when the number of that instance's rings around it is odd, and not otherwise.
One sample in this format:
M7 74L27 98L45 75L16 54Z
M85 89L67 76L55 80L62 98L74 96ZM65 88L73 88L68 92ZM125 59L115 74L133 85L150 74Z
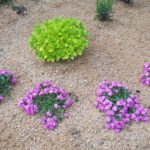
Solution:
M5 70L5 69L0 69L0 78L1 77L8 77L8 81L4 81L5 83L2 85L0 84L0 86L6 86L7 84L9 84L10 86L13 86L16 84L17 79L16 77L13 75L12 72ZM7 82L7 83L6 83ZM7 85L8 86L8 85ZM5 88L5 87L0 87L0 88ZM1 92L0 92L0 102L2 102L4 100L4 96Z

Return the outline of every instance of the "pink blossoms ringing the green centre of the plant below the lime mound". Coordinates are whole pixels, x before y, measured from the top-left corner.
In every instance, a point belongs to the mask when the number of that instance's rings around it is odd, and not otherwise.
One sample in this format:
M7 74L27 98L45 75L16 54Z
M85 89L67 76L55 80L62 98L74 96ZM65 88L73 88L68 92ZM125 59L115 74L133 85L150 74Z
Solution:
M69 94L65 90L56 86L50 81L43 81L42 83L37 84L33 89L29 90L26 93L26 96L19 100L18 106L23 109L26 114L30 116L34 115L39 112L39 108L34 103L34 100L38 97L51 94L56 94L57 100L63 103L63 105L60 105L59 103L54 103L54 105L52 106L53 110L66 110L73 103L73 100L69 98ZM64 113L64 117L66 116L67 113ZM52 112L47 111L45 113L45 116L41 117L41 123L44 125L45 128L53 130L58 126L58 117L55 116Z

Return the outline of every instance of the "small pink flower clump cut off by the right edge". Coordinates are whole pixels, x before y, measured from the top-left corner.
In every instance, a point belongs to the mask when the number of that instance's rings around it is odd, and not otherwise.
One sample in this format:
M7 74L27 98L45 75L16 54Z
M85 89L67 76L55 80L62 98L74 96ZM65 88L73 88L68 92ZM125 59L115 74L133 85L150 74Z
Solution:
M144 64L140 81L143 85L150 86L150 62Z

